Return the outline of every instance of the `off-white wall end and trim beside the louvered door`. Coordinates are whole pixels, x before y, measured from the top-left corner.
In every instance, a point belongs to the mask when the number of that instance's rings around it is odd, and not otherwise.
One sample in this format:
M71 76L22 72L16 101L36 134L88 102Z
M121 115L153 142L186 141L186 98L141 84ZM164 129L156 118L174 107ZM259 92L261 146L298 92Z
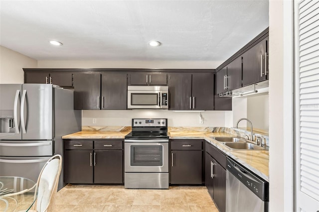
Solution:
M270 212L294 211L293 1L269 1Z

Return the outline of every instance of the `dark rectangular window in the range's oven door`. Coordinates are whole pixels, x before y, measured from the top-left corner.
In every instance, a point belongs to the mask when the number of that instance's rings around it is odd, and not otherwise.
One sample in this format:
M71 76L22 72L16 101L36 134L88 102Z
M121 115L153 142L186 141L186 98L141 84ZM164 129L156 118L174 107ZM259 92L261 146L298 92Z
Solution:
M163 146L132 145L131 166L163 166Z

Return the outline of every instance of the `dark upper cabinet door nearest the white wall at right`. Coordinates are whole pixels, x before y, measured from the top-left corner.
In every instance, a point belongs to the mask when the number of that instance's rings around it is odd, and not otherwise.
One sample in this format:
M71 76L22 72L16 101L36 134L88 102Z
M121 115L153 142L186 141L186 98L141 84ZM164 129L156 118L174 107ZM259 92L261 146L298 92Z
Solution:
M268 57L265 58L267 44L268 37L243 54L243 86L268 79L268 73L265 74L265 68L268 71Z

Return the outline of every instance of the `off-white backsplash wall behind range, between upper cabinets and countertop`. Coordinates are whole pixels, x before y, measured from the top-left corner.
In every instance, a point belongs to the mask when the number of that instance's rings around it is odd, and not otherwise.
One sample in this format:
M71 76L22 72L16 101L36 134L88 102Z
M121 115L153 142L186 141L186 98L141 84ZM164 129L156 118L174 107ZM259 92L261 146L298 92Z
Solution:
M174 112L170 110L83 110L82 126L131 126L132 118L168 118L168 126L225 126L226 111L204 111L203 124L199 112ZM93 124L93 118L96 123Z

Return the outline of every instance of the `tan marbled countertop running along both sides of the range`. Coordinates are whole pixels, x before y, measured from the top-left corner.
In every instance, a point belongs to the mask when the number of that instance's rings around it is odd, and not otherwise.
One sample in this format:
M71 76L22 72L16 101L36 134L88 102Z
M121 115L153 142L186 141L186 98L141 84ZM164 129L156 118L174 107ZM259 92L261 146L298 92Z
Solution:
M130 131L80 131L62 136L63 139L108 139L124 138ZM169 131L171 139L205 139L210 144L235 159L258 176L269 181L269 152L266 150L230 150L211 137L235 136L227 132Z

